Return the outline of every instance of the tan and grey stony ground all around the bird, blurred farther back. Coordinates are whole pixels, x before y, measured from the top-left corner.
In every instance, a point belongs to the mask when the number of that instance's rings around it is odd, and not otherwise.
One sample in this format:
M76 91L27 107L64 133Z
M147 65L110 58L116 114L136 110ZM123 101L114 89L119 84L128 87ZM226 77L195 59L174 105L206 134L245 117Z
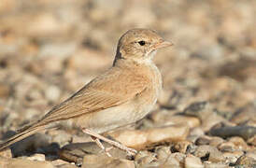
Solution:
M175 44L155 58L164 91L154 110L106 133L134 158L60 129L1 152L0 167L256 167L255 14L253 0L0 0L0 139L104 72L126 30Z

